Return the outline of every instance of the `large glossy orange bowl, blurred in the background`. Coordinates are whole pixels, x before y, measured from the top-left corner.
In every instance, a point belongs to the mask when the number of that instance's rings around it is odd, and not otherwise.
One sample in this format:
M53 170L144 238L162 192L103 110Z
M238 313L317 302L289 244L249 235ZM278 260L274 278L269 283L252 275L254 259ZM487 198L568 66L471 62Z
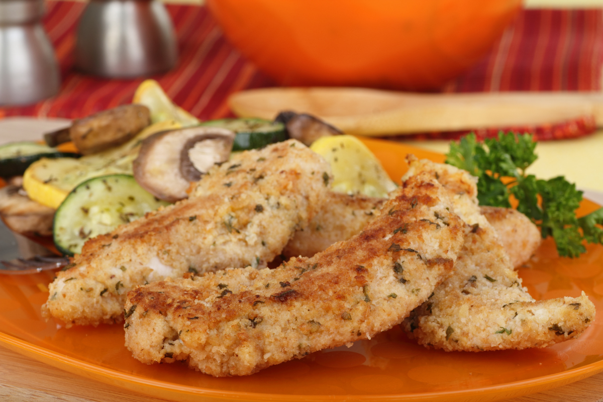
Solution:
M285 86L438 89L521 0L207 0L226 37Z

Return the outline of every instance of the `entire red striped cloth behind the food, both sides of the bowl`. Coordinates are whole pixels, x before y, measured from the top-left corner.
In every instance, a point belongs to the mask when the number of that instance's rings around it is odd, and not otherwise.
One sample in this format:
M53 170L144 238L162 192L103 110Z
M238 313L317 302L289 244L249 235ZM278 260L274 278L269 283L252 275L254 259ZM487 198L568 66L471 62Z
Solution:
M80 118L131 101L142 78L107 80L80 74L72 68L75 28L84 6L82 2L71 1L47 3L44 27L60 64L60 93L27 107L2 107L0 118ZM200 119L223 118L230 115L226 99L231 93L274 86L270 78L257 71L224 39L205 7L166 7L174 22L180 58L175 69L151 78L159 81L175 103ZM490 54L443 90L599 90L602 30L602 10L525 10ZM581 127L580 130L590 127L566 125L561 131L557 127L556 133L565 136L570 126ZM549 132L542 137L559 135ZM567 136L576 136L576 132Z

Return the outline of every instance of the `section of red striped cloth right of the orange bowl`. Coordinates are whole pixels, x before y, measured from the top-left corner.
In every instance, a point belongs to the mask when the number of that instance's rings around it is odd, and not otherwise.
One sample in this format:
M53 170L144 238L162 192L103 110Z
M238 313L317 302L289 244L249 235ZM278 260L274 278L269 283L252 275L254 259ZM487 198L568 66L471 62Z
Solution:
M445 92L601 90L603 10L525 10Z

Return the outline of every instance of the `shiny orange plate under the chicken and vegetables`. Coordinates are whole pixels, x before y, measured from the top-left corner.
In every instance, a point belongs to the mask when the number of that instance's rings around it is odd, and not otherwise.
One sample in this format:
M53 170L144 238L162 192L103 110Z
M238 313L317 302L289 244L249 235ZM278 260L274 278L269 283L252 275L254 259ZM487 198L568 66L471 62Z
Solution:
M404 156L441 161L443 155L380 140L366 140L399 178ZM596 209L585 202L582 213ZM546 241L525 268L524 286L537 300L585 291L603 308L603 247L579 259L557 257ZM179 401L488 401L561 386L603 371L603 319L581 338L524 351L445 353L409 341L400 328L352 348L312 353L248 377L213 378L181 363L144 365L124 347L121 325L63 328L45 322L40 305L53 274L0 276L0 342L6 347L102 382Z

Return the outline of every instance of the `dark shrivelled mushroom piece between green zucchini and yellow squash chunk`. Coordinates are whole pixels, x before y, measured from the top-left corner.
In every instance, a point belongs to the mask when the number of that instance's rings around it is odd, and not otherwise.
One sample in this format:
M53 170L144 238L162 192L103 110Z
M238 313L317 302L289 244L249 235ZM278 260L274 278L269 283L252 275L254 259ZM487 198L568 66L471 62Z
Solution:
M307 146L312 145L312 142L320 137L343 134L338 128L306 113L282 111L274 121L285 124L289 137L303 142Z

